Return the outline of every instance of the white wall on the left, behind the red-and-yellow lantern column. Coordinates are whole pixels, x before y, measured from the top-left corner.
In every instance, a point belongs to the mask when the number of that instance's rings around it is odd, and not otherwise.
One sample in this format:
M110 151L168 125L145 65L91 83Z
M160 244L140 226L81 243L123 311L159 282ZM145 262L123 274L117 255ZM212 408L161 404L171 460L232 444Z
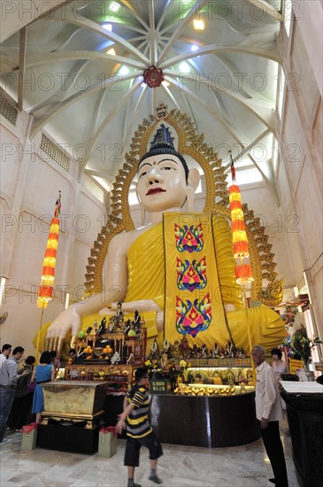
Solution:
M1 125L1 267L6 278L1 314L8 318L0 326L1 344L22 345L25 354L35 354L32 340L40 325L36 306L50 219L58 190L62 192L61 228L55 269L55 298L44 311L43 323L64 309L68 286L71 299L84 292L84 274L90 249L105 219L105 205L78 182L79 167L71 159L66 172L39 149L41 135L27 138L30 117L22 112L13 126Z

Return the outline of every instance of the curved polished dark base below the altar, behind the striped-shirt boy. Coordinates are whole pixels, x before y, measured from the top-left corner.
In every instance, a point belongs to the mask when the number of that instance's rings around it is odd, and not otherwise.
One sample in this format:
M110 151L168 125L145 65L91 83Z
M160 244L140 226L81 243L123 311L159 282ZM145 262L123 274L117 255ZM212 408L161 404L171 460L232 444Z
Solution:
M260 437L254 392L218 398L153 395L150 421L162 443L223 447Z

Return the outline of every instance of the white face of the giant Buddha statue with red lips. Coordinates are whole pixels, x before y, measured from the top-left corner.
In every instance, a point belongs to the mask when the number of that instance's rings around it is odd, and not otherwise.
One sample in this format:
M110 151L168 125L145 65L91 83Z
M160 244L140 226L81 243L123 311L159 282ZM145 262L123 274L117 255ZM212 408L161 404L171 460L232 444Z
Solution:
M172 154L158 154L142 160L138 169L137 195L148 212L181 208L187 195L181 160Z

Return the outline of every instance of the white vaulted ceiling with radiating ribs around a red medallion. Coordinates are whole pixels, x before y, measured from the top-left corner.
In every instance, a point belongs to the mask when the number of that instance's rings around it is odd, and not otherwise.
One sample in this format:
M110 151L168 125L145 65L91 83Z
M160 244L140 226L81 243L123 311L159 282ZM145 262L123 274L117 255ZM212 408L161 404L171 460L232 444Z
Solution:
M86 171L111 182L160 102L237 169L273 176L281 0L75 0L2 44L2 86ZM196 29L195 20L204 28ZM198 27L198 26L197 26ZM201 26L200 26L201 27ZM143 72L164 82L150 88Z

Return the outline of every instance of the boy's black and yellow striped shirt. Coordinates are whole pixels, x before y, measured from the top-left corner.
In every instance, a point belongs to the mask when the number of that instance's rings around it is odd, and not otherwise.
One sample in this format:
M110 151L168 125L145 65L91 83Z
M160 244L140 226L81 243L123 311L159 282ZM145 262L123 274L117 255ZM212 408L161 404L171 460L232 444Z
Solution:
M129 404L135 404L135 408L127 417L127 436L132 438L147 437L152 431L148 421L150 400L147 390L142 386L135 386L127 391Z

